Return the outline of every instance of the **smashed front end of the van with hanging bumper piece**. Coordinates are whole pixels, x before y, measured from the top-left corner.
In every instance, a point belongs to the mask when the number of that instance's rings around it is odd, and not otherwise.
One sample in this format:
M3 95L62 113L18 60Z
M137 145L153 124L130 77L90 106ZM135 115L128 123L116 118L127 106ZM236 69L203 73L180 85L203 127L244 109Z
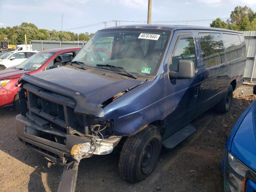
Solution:
M35 76L22 76L16 132L28 148L63 166L58 191L75 190L80 160L113 151L122 134L115 134L114 121L106 119L104 106L142 83L136 82L96 106L81 92Z

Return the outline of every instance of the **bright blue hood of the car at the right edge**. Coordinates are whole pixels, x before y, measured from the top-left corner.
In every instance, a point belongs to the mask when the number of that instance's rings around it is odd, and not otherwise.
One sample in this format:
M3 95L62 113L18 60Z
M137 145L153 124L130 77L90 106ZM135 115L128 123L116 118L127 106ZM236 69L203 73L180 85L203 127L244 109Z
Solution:
M230 151L241 162L256 171L256 104L248 107L247 113L237 128ZM234 127L235 128L235 127Z

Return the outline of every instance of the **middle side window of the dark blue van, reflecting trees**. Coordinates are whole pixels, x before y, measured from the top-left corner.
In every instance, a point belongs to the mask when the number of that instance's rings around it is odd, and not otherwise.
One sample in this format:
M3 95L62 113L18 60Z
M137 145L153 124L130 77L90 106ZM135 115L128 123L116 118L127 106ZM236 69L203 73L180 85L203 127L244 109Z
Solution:
M218 66L225 62L224 44L219 33L199 33L205 68Z

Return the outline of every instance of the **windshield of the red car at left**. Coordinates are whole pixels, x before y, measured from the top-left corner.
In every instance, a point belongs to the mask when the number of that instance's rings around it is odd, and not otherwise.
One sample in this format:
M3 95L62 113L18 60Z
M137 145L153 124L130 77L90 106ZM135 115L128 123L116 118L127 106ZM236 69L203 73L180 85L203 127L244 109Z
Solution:
M39 52L22 62L16 68L25 70L37 70L40 68L54 53L50 52Z

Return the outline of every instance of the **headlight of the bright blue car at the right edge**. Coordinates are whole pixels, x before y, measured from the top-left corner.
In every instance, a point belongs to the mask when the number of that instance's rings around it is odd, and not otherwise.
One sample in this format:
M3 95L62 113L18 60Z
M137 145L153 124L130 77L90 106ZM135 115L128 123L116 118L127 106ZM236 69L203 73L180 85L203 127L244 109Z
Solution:
M244 176L248 170L249 169L238 159L228 153L228 169L226 176L231 192L242 192Z

